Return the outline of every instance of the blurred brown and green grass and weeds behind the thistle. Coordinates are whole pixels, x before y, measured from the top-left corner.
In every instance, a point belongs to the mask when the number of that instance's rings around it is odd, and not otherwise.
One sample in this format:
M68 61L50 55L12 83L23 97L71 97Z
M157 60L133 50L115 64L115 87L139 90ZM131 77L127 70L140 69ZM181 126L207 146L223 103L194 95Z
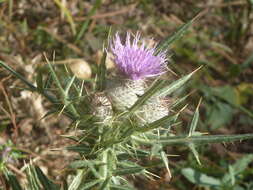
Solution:
M169 50L169 68L178 76L204 66L181 89L191 93L190 107L181 116L185 123L172 130L188 130L191 110L202 97L199 131L253 133L252 8L251 0L1 0L0 60L30 81L36 80L35 73L45 72L40 67L46 62L43 54L60 64L81 58L95 71L110 30L138 30L159 41L201 12ZM62 115L41 120L48 107L47 101L27 92L0 68L1 157L11 155L7 167L21 180L24 162L32 161L52 180L60 181L75 155L59 149L71 143L60 136L70 121ZM140 189L194 189L222 179L231 188L240 184L253 189L252 141L205 145L198 150L201 166L186 148L168 147L173 154L169 159L172 179L165 168L157 168L154 172L160 179L133 182ZM4 188L4 180L0 184Z

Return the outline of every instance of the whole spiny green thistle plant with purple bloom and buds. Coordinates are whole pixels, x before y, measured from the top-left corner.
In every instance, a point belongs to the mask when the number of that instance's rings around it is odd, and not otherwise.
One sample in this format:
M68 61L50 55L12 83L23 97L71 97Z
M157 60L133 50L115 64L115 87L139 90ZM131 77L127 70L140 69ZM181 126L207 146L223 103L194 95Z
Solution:
M57 74L57 69L49 61L47 67L53 79L49 86L42 74L38 74L35 86L0 62L2 67L28 85L29 90L47 98L52 103L51 113L64 114L72 119L71 127L78 132L75 136L65 135L76 143L65 149L79 153L79 157L69 165L73 171L69 174L72 180L66 180L64 186L56 185L38 167L29 165L27 178L30 188L134 189L127 176L157 177L150 170L152 166L142 162L143 159L160 160L168 176L173 176L165 151L167 146L187 146L200 162L195 147L198 144L253 138L253 134L213 136L196 132L200 103L194 111L188 134L170 131L186 107L182 103L187 96L174 98L170 104L168 97L185 85L198 69L175 81L163 79L167 72L167 48L192 22L182 25L172 36L153 47L148 46L139 33L132 37L127 33L126 38L116 33L98 65L97 80L89 85L94 88L88 88L87 82L71 73ZM106 74L107 52L114 56L117 70L114 76ZM10 184L18 183L10 175L6 173L6 180Z

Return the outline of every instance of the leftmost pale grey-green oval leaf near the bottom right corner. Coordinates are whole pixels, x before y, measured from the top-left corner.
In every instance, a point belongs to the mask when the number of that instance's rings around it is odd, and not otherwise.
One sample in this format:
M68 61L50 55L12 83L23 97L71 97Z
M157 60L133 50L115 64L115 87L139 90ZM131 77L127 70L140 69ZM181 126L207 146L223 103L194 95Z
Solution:
M217 178L198 172L192 168L184 168L181 173L192 183L203 186L220 186L221 181Z

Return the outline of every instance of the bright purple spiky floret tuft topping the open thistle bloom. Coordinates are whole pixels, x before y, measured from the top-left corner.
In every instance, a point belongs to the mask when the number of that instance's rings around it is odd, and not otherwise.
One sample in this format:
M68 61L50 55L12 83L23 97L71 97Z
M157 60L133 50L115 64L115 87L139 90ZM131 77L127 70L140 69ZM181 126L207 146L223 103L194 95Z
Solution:
M138 32L133 37L132 42L128 32L124 44L121 42L119 34L116 33L111 42L111 51L117 68L129 79L144 79L165 72L166 51L155 55L156 47L147 47L146 43L140 40L140 33Z

